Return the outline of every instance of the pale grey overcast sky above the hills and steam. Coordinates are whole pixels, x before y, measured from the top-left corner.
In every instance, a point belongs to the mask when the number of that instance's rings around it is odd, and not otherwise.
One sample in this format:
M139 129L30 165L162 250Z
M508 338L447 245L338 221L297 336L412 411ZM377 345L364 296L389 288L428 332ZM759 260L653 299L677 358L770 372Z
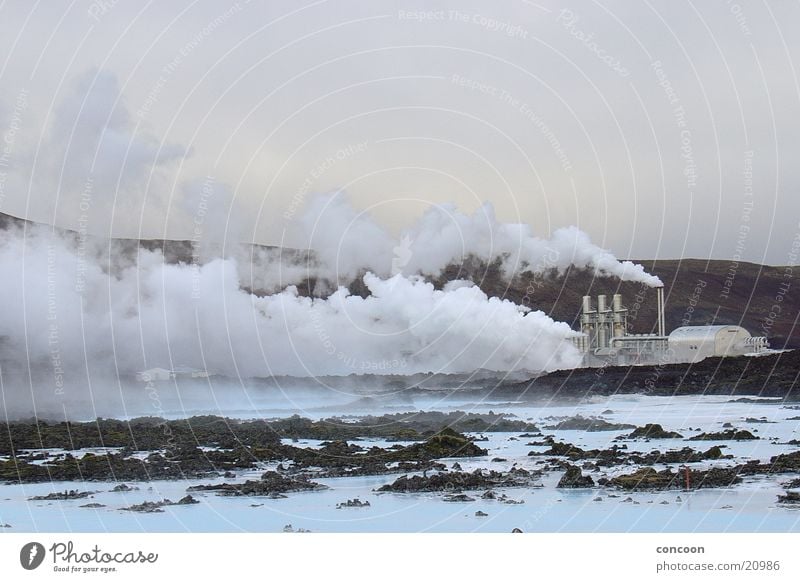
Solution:
M620 257L787 264L798 25L795 2L5 2L0 211L276 243L344 190L394 230L488 200Z

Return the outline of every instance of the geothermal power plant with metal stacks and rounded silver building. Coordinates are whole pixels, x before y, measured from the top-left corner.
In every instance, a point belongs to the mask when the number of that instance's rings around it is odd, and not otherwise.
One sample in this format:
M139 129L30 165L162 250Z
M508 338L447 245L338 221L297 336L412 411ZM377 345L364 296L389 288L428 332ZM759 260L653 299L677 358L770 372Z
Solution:
M766 337L755 337L738 325L688 325L667 335L664 288L657 288L657 325L653 334L628 333L628 310L622 296L611 302L598 295L596 304L585 295L580 333L572 341L583 354L583 366L626 366L698 362L712 356L746 356L767 353Z

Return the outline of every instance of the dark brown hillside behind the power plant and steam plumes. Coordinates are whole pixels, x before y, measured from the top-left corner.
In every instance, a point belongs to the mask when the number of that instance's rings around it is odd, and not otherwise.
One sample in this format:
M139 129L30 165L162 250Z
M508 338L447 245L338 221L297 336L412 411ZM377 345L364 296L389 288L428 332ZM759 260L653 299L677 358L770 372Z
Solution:
M0 229L25 225L30 228L33 224L0 214ZM128 257L135 256L139 247L160 249L171 263L189 263L192 260L191 241L117 239L112 254L119 252ZM278 253L275 247L255 245L249 248L251 256L265 251ZM293 261L305 261L308 258L303 251L288 249L284 252ZM797 329L800 292L791 267L698 259L634 262L643 264L648 272L664 282L667 332L680 325L735 324L745 327L753 335L766 335L774 348L800 348L800 332ZM250 278L246 269L242 273L244 278ZM656 293L653 289L638 283L621 282L613 277L596 277L587 269L571 268L561 274L525 274L509 282L498 264L487 266L480 261L467 259L461 265L448 267L436 283L441 286L458 278L471 279L490 296L541 309L573 327L583 295L621 293L630 313L630 331L654 331ZM311 294L316 288L313 279L298 285L299 291L305 294ZM272 291L249 287L247 290L256 294ZM351 284L351 291L360 295L368 293L361 281Z

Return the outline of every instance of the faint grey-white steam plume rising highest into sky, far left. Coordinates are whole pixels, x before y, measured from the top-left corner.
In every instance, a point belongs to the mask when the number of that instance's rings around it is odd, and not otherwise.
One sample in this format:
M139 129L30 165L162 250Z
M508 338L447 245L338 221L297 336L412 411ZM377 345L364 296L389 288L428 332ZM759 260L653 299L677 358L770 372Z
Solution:
M6 207L99 235L135 237L140 224L163 232L168 177L190 151L137 123L114 73L86 71L62 95L41 143L21 143L19 167L8 176L8 191L29 199L9 197Z

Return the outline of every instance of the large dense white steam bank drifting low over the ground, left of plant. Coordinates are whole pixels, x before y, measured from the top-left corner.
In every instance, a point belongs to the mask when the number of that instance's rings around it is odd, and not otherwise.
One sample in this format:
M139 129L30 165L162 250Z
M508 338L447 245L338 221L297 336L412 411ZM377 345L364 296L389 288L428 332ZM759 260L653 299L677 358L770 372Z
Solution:
M138 264L104 272L45 228L0 234L0 336L5 362L62 373L190 367L241 376L550 370L579 355L565 323L488 298L397 275L364 277L371 296L326 299L290 287L256 297L234 259ZM5 363L4 362L4 363Z

